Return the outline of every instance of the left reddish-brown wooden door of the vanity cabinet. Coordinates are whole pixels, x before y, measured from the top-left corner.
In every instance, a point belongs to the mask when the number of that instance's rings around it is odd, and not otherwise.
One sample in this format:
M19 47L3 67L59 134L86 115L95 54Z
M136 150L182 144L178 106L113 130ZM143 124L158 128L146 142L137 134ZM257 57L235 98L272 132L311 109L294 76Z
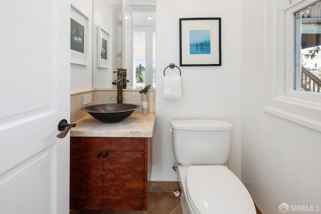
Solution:
M102 152L70 152L71 209L102 209L102 164Z

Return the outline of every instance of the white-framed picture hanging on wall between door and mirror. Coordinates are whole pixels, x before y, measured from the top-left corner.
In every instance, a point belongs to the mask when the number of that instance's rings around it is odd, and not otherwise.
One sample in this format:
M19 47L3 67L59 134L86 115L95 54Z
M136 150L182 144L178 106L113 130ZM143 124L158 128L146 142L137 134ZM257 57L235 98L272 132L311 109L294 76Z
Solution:
M70 63L89 65L89 18L70 5Z

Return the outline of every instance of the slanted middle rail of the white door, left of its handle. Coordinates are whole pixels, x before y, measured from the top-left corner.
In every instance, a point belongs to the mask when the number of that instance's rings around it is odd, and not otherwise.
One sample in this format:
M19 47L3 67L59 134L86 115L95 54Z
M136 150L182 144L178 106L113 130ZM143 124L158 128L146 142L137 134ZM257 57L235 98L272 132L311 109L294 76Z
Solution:
M23 120L11 124L5 130L0 131L0 174L11 169L22 161L32 157L48 146L56 143L58 122L53 114L32 118L32 121ZM52 123L48 123L48 119ZM1 164L5 163L5 164Z

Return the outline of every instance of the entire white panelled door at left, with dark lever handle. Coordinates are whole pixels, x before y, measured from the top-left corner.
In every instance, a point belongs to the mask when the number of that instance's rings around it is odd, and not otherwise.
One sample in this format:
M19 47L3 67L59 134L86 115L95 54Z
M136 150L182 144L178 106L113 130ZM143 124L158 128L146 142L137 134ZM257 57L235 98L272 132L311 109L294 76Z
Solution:
M0 29L0 213L67 214L70 1L1 1Z

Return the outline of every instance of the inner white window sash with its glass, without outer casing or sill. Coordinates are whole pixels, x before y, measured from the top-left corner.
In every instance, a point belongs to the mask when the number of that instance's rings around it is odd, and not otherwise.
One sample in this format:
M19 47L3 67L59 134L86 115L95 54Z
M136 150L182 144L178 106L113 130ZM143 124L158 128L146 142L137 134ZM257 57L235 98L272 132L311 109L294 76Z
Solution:
M286 94L321 98L321 1L291 1L286 13Z

